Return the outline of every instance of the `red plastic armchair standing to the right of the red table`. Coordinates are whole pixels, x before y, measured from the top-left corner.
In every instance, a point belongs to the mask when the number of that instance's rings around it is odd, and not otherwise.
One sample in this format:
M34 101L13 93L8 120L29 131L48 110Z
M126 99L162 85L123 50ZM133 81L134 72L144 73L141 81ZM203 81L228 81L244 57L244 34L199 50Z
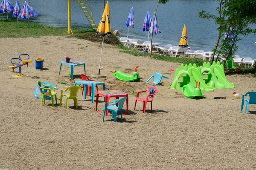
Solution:
M139 94L141 92L146 92L146 91L149 91L147 97L146 98L139 98ZM137 92L136 99L135 99L134 110L135 110L137 101L142 101L143 102L143 113L145 113L147 102L151 102L151 112L152 112L152 101L154 99L154 95L156 95L157 92L158 92L158 89L154 86L150 86L146 90Z

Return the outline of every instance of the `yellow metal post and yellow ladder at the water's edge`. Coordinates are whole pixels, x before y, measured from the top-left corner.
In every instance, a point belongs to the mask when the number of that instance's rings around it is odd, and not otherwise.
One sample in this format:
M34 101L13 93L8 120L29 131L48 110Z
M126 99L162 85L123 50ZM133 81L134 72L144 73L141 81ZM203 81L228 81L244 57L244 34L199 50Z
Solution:
M86 3L84 3L84 1ZM87 18L87 20L89 21L91 27L96 30L97 26L93 21L93 11L89 6L89 3L87 0L77 0L77 2L79 3L79 6L81 7L82 11L84 12L85 17ZM72 30L71 30L71 0L67 0L67 14L68 14L68 30L67 33L68 34L73 34Z

